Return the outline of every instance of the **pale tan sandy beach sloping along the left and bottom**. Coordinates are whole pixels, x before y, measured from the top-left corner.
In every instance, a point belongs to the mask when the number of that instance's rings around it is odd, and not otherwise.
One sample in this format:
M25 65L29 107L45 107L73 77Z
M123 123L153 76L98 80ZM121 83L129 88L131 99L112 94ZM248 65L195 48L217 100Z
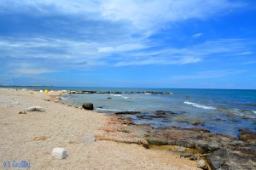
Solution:
M106 133L102 127L108 116L56 103L50 97L56 94L0 88L2 167L7 161L26 161L30 169L198 169L195 161L166 150L96 141ZM31 106L42 106L45 112L18 114ZM55 147L65 148L67 158L53 158Z

